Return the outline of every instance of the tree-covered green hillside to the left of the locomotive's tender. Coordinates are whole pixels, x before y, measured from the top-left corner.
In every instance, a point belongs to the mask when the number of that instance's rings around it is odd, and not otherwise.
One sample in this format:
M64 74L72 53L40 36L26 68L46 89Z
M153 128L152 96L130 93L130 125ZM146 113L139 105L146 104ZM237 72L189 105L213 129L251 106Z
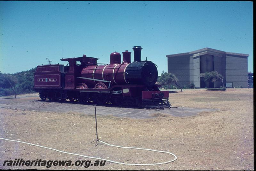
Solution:
M0 72L0 97L24 93L34 93L34 73L36 68L15 74Z

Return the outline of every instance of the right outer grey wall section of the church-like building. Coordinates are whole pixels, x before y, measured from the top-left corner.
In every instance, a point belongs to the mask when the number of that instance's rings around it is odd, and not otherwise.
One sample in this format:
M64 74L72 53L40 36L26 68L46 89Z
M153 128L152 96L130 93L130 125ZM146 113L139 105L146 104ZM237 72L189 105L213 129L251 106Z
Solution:
M233 87L248 87L247 57L226 56L226 82L233 82Z

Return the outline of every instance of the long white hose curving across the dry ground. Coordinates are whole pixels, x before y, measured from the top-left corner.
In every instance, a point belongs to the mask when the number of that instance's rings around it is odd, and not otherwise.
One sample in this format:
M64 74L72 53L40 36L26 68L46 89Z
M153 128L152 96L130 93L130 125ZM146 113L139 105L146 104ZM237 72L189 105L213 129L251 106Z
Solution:
M164 151L158 151L158 150L151 150L151 149L146 149L146 148L121 147L121 146L111 145L111 144L105 143L104 141L98 140L98 141L99 141L99 142L101 142L101 143L104 143L104 144L106 144L106 145L113 146L113 147L118 147L118 148L130 148L130 149L138 149L138 150L148 150L148 151L153 151L153 152L162 152L162 153L168 153L168 154L171 154L172 156L174 156L174 157L175 157L175 159L170 160L170 161L166 161L166 162L163 162L163 163L152 163L152 164L120 163L120 162L112 161L112 160L108 160L108 159L101 159L101 158L97 158L97 157L84 156L84 155L81 155L81 154L75 154L75 153L70 153L70 152L63 152L63 151L56 150L56 149L53 149L53 148L44 147L44 146L36 145L36 144L30 144L30 143L26 143L26 142L22 142L22 141L9 140L9 139L5 139L5 138L0 138L0 139L7 140L7 141L14 141L14 142L19 142L19 143L24 143L24 144L29 144L29 145L34 145L34 146L38 146L38 147L42 147L42 148L46 148L46 149L50 149L50 150L54 150L54 151L57 151L57 152L62 152L62 153L66 153L66 154L72 154L72 155L81 156L81 157L85 157L85 158L99 159L99 160L106 160L106 161L109 161L109 162L112 162L112 163L122 164L122 165L134 165L134 166L161 165L161 164L166 164L166 163L173 162L173 161L175 161L175 160L177 159L177 157L176 157L174 154L170 153L170 152L164 152Z

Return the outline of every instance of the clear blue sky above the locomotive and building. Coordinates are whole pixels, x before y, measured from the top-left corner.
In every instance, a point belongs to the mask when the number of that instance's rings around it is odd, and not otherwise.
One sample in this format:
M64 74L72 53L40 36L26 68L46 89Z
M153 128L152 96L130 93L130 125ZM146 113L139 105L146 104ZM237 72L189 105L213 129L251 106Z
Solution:
M253 72L252 16L245 1L0 1L0 71L83 54L107 63L112 52L142 46L158 75L166 55L205 47L249 54Z

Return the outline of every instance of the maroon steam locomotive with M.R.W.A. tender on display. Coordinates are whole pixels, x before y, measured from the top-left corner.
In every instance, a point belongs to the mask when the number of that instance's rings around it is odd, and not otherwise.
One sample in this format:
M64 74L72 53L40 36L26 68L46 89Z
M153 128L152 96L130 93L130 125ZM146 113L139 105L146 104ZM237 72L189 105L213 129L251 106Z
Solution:
M131 52L110 54L110 63L98 65L98 58L62 58L68 65L37 66L36 92L40 98L51 101L78 100L80 103L112 103L119 106L170 107L169 92L156 86L157 66L151 61L141 61L141 47Z

